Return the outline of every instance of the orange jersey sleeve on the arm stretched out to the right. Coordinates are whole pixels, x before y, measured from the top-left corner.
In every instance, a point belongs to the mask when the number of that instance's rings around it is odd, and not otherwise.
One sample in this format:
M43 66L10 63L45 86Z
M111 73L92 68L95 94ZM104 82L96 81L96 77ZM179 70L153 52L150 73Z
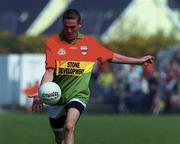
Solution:
M104 48L100 44L96 42L97 47L97 60L101 63L104 63L105 61L113 58L113 52L107 48Z

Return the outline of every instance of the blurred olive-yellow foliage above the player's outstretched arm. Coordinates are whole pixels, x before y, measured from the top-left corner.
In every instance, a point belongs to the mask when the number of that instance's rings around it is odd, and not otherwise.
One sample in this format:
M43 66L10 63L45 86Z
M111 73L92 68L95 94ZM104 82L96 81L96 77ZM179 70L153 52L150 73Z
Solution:
M168 46L180 44L180 41L172 38L163 37L157 35L150 38L143 37L131 37L127 41L114 41L105 44L111 50L128 56L143 56L147 54L155 55L161 48L167 48Z

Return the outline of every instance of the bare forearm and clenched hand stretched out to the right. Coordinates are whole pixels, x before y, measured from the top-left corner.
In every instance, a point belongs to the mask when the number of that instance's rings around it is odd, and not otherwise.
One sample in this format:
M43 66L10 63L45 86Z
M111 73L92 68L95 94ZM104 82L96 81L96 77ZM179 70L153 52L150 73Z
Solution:
M109 61L112 63L119 63L119 64L146 65L146 64L152 64L154 61L154 57L151 55L147 55L140 58L134 58L134 57L124 56L118 53L113 53L113 57Z

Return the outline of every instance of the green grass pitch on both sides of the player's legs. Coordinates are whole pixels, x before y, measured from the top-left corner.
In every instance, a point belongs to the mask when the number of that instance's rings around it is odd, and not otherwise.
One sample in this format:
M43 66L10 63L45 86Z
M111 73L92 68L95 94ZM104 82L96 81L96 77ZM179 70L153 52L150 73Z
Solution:
M82 115L75 144L180 144L180 116ZM54 144L46 114L1 113L0 144Z

